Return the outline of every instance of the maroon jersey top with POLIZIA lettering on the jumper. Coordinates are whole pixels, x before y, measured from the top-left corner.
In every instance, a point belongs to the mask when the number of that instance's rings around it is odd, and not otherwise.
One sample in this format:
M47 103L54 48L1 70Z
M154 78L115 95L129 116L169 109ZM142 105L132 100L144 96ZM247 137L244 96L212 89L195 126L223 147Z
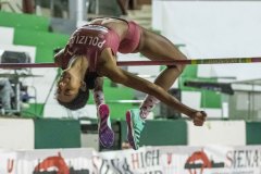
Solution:
M100 25L85 25L76 29L71 36L64 52L60 58L62 69L66 69L73 55L86 55L90 63L89 72L96 72L97 59L101 51L111 48L115 55L120 46L119 35L107 27Z

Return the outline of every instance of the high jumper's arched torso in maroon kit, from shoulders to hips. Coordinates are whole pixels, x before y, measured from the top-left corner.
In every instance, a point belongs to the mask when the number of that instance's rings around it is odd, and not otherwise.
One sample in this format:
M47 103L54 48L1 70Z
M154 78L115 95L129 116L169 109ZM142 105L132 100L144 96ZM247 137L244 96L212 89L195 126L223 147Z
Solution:
M132 29L130 29L132 28ZM139 30L134 22L117 18L97 18L89 24L76 29L64 50L55 55L57 62L64 70L74 55L86 55L88 60L87 78L94 86L94 80L98 75L99 62L102 51L110 48L112 54L116 52L129 53L135 50L139 41L139 33L129 33L129 30ZM136 38L135 45L133 39Z

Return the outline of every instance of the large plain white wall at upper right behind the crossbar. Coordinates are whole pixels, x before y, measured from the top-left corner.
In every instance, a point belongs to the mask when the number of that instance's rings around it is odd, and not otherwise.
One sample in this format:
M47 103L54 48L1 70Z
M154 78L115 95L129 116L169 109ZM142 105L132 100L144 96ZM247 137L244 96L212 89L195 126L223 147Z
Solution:
M190 59L261 55L260 1L152 1L152 26ZM199 76L260 78L256 64L199 65Z

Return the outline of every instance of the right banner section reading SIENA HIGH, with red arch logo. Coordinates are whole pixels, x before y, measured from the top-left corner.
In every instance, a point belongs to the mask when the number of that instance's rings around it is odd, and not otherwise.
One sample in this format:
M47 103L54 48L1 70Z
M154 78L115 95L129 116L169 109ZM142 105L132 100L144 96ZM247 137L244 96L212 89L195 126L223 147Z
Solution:
M100 153L99 172L133 174L260 174L261 147L147 147ZM108 172L109 173L109 172Z

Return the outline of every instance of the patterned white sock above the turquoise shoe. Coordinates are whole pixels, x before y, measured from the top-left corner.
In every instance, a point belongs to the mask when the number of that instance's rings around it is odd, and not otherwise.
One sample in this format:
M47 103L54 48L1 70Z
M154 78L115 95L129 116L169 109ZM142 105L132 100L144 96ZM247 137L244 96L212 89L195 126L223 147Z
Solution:
M140 105L140 117L141 119L146 119L149 113L153 110L153 108L156 107L157 103L159 103L160 100L158 100L156 97L153 96L146 96L144 102Z

